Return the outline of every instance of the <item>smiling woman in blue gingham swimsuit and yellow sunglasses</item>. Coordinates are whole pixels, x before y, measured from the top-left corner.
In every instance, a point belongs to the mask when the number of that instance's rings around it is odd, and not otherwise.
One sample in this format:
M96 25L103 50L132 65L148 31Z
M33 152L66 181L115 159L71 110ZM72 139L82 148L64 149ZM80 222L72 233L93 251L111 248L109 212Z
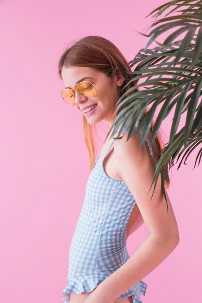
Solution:
M153 124L141 148L141 130L129 140L128 130L119 140L110 138L110 132L94 163L93 127L103 120L112 126L117 101L135 85L124 88L133 77L128 72L118 48L99 36L80 39L60 58L62 98L82 113L91 168L69 250L68 285L62 292L66 303L141 303L147 287L141 279L179 243L171 201L167 197L167 212L160 179L152 199L153 188L148 193L162 152L159 134L150 145ZM126 239L144 222L150 235L130 257Z

